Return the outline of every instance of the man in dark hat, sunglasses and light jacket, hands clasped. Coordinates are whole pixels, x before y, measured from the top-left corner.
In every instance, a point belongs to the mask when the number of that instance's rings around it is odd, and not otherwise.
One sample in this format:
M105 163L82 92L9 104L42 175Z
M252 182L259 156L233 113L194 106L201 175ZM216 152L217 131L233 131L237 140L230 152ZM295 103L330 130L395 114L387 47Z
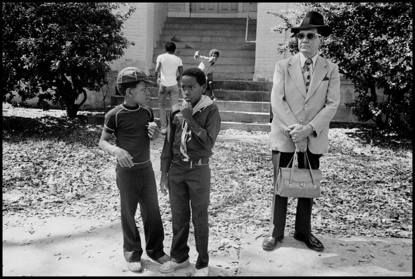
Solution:
M319 46L331 34L322 15L308 12L301 26L291 28L291 32L297 38L299 53L276 63L271 92L274 117L269 147L274 185L279 167L287 167L294 152L299 152L299 168L308 168L305 152L311 168L319 168L321 155L328 152L328 125L340 102L339 68L318 55ZM269 236L262 243L264 250L273 250L284 238L287 201L287 197L274 194ZM294 238L321 251L323 244L311 234L312 204L312 198L298 198Z

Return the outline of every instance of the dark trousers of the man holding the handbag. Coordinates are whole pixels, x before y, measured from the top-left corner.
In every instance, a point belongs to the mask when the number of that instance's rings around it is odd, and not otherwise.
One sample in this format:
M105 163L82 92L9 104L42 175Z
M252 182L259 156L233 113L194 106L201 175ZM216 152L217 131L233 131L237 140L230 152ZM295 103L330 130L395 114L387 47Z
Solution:
M278 169L280 167L286 168L294 152L278 152L272 151L272 163L274 165L274 185L278 177ZM307 150L308 160L312 169L318 169L320 166L321 154L313 154ZM298 153L298 167L308 168L306 162L305 153ZM305 161L305 162L304 162ZM307 166L304 166L306 163ZM289 165L292 166L293 163ZM274 187L275 188L275 187ZM284 235L285 221L287 218L287 203L288 197L282 197L280 195L273 195L270 230L269 235L273 237L280 237ZM295 215L295 230L298 233L310 234L311 233L311 210L313 206L312 198L299 197L297 202L297 212Z

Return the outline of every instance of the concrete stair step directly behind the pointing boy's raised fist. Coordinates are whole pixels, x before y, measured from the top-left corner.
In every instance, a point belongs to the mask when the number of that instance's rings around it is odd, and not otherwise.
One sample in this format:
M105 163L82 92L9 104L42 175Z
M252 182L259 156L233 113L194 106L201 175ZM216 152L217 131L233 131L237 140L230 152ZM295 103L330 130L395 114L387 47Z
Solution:
M195 55L196 50L199 51L200 55L203 56L209 56L209 51L212 48L202 48L202 49L192 49L192 48L179 48L176 49L175 51L175 55L179 56L182 60L184 57L192 57L193 59L193 55ZM222 60L222 58L255 58L255 50L238 50L238 51L234 51L234 50L229 50L229 49L225 49L225 50L221 50L218 49L219 51L219 61ZM154 56L155 59L157 59L157 56L160 54L165 53L164 47L156 47L154 48Z

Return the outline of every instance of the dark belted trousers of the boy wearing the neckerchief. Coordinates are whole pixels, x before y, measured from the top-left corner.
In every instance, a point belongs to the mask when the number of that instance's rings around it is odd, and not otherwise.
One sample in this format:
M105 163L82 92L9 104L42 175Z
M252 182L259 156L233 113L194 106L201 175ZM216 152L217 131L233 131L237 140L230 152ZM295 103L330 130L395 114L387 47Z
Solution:
M168 177L173 225L173 241L170 256L179 263L189 258L190 248L187 245L187 241L190 216L192 214L196 251L199 253L196 268L206 267L209 262L209 164L196 165L194 162L191 164L190 162L179 160L172 163Z

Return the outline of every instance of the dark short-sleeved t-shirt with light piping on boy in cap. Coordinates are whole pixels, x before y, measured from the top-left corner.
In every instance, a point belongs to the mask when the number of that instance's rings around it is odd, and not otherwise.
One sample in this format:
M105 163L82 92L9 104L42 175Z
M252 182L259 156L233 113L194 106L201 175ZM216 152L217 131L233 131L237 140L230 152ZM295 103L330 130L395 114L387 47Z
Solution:
M134 166L117 168L140 169L151 165L148 122L154 121L154 114L148 106L128 107L118 105L105 114L104 131L114 133L116 145L133 157Z

